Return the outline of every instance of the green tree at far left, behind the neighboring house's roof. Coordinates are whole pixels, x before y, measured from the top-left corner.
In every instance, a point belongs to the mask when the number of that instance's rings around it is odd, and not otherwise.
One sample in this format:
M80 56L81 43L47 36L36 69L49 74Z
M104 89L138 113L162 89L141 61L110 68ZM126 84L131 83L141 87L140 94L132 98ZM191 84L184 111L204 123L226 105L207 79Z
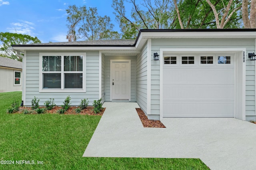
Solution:
M0 51L3 57L8 57L18 61L22 61L22 57L18 55L15 51L8 49L8 47L15 44L27 44L27 43L41 43L37 37L32 37L26 34L16 34L10 32L0 32Z

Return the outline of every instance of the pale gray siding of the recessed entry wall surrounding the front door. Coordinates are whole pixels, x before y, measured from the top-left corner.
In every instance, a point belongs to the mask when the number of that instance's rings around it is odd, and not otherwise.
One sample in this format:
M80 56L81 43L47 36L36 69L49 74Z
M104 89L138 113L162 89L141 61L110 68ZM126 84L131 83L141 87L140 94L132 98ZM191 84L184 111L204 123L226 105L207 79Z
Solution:
M136 56L105 56L105 101L110 101L110 59L131 60L131 101L136 101L136 77L135 59Z

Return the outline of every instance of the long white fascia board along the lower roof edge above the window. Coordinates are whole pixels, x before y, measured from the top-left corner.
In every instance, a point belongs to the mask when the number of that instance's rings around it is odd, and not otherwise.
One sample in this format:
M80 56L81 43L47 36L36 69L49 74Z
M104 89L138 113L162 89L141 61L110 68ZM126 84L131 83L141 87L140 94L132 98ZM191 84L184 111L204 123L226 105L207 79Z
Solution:
M28 47L12 47L15 51L16 50L20 50L20 51L26 51L26 50L33 50L33 51L37 51L37 50L49 50L49 51L54 51L54 50L61 50L61 51L68 51L68 50L80 50L80 51L84 51L84 50L136 50L135 47L80 47L80 46L76 46L76 47L71 47L71 46L46 46L46 47L34 47L34 46L28 46Z

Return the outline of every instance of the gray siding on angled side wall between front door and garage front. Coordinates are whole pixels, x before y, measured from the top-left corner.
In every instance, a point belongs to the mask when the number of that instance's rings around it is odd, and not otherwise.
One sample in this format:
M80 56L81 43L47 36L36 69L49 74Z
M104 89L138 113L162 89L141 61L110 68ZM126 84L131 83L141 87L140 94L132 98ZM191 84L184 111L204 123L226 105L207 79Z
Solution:
M145 113L147 112L147 49L147 45L144 45L136 59L137 103Z

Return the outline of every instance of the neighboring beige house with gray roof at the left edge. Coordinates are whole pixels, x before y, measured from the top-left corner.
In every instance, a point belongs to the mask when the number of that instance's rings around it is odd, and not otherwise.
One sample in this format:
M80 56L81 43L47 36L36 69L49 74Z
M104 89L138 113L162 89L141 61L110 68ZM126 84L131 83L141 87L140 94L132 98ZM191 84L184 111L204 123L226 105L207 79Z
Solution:
M22 62L0 57L0 92L22 90Z

